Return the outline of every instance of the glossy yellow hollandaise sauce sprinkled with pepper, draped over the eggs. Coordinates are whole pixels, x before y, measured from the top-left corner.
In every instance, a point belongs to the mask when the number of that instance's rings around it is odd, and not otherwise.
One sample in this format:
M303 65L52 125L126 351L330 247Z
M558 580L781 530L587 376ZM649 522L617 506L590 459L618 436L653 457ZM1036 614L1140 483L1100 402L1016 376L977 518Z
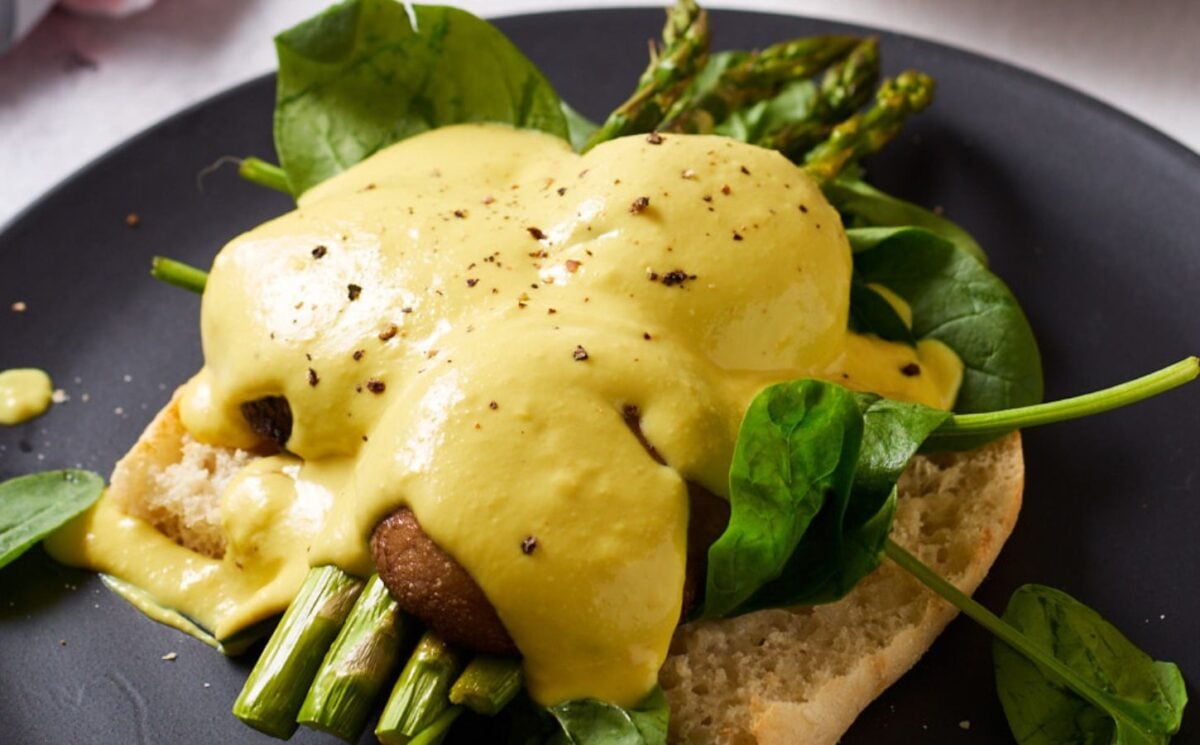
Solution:
M535 701L631 705L679 620L686 483L727 495L757 391L817 377L953 404L949 349L847 331L850 281L838 214L774 151L668 134L581 156L498 125L404 140L220 253L182 425L252 447L241 404L284 397L292 455L227 487L211 585L182 587L176 558L120 564L232 633L310 565L371 573L372 529L407 505L496 606ZM298 499L306 519L263 518ZM97 515L90 533L119 522Z

